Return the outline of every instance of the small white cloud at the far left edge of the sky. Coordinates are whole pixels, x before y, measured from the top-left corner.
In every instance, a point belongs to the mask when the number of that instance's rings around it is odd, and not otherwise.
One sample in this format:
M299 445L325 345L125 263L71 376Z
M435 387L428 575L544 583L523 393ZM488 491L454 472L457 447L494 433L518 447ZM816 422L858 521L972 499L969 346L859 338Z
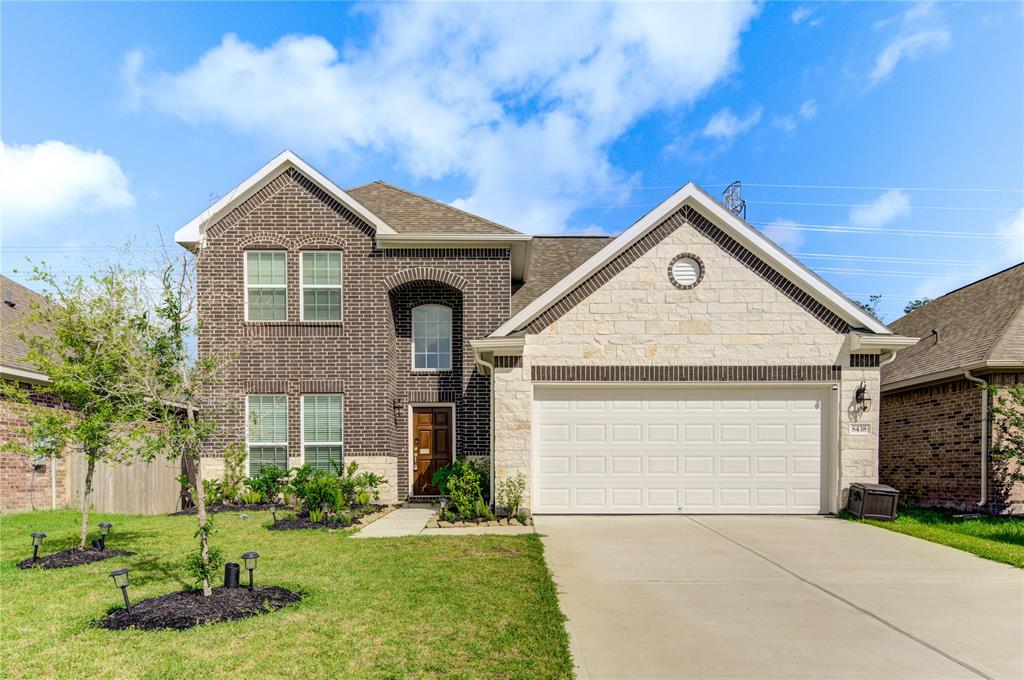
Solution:
M0 141L0 224L7 236L79 212L135 204L118 162L62 141Z

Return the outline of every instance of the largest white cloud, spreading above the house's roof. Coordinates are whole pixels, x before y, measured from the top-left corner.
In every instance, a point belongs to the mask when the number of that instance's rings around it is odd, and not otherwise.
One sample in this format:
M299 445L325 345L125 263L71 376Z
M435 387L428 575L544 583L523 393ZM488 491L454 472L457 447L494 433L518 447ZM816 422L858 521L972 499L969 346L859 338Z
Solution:
M175 73L126 58L127 88L196 124L372 154L468 179L456 205L523 230L564 226L581 189L628 180L608 147L735 68L754 3L380 4L362 46L228 35Z

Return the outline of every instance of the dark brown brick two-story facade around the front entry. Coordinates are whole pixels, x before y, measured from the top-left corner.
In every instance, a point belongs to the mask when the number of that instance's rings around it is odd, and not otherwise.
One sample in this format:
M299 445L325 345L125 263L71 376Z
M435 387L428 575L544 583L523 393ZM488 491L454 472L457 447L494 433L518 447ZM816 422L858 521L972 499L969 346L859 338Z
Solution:
M245 440L245 396L289 396L289 464L301 461L300 402L308 393L345 397L345 456L393 460L375 466L389 494L409 491L410 402L456 403L456 451L487 455L486 378L476 375L471 338L509 317L507 248L381 250L370 225L305 177L289 170L207 230L199 264L199 349L233 352L218 393L205 405L218 430L204 452L219 474L224 447ZM244 253L288 253L288 321L246 322ZM303 250L343 252L343 322L300 322ZM453 370L415 373L409 310L437 302L453 308Z

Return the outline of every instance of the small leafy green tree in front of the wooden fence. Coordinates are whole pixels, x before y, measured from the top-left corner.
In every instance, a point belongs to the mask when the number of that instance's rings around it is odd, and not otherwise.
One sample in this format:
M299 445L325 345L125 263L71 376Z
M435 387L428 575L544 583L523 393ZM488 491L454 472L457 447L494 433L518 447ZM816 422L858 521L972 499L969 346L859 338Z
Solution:
M144 431L139 427L142 403L123 380L139 337L139 290L132 286L134 278L117 265L88 278L59 280L42 264L31 278L46 286L47 302L34 305L26 318L29 329L44 331L20 333L28 359L49 379L39 391L52 394L75 415L37 412L29 418L30 428L51 441L67 441L85 456L79 536L79 548L85 548L96 464L131 456Z

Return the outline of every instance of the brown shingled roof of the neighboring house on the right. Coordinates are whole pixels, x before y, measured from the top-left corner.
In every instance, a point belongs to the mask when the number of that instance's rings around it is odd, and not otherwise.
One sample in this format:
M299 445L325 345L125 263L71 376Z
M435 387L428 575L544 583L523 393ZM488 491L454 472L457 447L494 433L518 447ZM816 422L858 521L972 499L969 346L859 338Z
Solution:
M892 323L921 338L882 369L884 386L1024 362L1024 262L958 288ZM938 332L936 337L932 331Z

